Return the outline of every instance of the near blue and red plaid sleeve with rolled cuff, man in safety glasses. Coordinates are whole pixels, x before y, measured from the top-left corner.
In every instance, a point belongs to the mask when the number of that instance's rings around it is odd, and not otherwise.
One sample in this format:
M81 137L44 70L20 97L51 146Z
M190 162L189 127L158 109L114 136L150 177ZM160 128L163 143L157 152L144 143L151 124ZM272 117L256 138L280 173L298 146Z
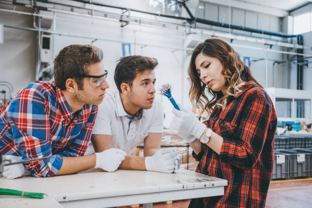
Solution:
M48 157L46 160L31 162L28 169L33 176L53 176L62 166L63 160L52 155L48 140L49 104L42 92L35 88L20 91L7 112L13 139L20 150L22 160Z

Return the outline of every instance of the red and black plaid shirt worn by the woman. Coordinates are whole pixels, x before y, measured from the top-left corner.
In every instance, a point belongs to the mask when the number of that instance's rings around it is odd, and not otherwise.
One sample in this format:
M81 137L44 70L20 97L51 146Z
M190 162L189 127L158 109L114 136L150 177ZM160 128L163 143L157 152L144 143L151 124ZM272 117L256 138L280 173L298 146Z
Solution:
M265 90L254 82L215 107L207 127L223 137L220 155L206 144L193 157L196 172L228 181L223 196L192 199L189 207L264 207L274 162L276 114Z

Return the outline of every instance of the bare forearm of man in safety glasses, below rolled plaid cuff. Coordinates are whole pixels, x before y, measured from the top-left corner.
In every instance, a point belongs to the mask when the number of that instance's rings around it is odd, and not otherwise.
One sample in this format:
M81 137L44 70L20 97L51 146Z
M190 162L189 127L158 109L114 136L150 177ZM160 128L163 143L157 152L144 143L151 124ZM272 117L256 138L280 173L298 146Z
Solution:
M96 155L90 154L82 157L63 157L62 167L56 175L65 175L94 168Z

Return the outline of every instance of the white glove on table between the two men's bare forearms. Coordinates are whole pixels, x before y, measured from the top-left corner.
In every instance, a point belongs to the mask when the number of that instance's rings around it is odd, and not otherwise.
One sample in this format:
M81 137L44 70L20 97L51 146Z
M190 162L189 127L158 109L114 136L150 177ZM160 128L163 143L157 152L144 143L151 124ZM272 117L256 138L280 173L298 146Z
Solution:
M95 168L101 168L108 172L114 172L124 160L126 152L121 149L111 148L102 152L95 152L96 164Z

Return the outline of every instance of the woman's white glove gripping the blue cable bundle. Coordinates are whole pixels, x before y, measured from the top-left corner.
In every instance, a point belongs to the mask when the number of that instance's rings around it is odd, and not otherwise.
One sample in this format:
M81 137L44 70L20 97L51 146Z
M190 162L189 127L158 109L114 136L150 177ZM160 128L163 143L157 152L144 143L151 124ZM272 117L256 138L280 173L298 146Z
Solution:
M179 106L179 110L172 108L172 113L174 117L171 122L171 128L177 131L180 137L183 137L189 143L194 141L195 138L199 139L202 133L204 132L206 125L198 120L196 115L183 107ZM192 141L192 142L193 142Z

